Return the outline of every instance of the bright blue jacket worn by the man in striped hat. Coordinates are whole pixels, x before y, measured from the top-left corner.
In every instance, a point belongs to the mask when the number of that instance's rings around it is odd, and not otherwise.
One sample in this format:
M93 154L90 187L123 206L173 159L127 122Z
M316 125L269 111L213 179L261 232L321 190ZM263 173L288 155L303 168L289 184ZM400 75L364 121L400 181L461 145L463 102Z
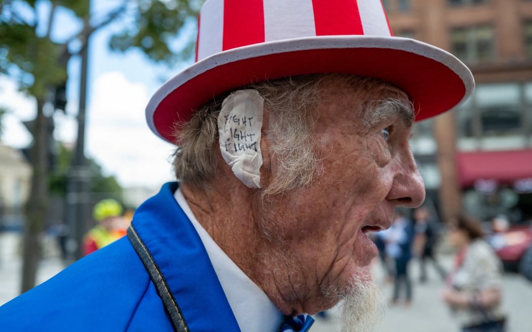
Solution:
M173 197L177 186L165 184L135 212L132 226L144 246L123 237L73 263L0 307L0 330L174 330L161 280L154 283L137 254L144 248L190 332L240 331L203 243Z

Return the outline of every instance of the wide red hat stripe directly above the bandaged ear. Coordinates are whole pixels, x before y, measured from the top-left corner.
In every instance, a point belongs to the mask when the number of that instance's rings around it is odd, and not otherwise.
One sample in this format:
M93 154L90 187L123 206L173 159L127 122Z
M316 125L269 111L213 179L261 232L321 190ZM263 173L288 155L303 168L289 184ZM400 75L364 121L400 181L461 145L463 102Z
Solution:
M262 0L225 0L222 49L264 42Z

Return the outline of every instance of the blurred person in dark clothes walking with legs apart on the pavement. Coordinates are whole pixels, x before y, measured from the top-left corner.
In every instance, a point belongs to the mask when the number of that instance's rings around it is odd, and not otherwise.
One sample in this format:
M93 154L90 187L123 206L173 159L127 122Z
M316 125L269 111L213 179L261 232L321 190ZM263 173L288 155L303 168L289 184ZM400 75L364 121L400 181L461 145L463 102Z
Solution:
M427 207L422 206L414 210L414 225L414 253L419 258L419 282L425 283L427 281L427 262L429 260L440 278L445 280L447 273L434 254L439 232Z

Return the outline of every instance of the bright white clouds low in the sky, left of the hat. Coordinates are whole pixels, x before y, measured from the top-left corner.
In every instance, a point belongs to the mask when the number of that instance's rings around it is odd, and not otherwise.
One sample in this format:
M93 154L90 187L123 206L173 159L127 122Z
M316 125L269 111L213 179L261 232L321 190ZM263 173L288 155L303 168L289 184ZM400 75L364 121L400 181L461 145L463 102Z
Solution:
M94 80L92 91L86 114L87 156L102 165L105 175L117 177L125 188L156 188L172 181L169 156L173 146L156 137L146 124L147 88L129 82L122 73L109 72ZM0 76L0 106L12 110L2 118L2 143L15 148L28 146L31 135L21 122L35 118L34 99L18 92L12 81ZM54 136L60 141L76 140L74 106L77 101L69 100L69 112L54 116Z

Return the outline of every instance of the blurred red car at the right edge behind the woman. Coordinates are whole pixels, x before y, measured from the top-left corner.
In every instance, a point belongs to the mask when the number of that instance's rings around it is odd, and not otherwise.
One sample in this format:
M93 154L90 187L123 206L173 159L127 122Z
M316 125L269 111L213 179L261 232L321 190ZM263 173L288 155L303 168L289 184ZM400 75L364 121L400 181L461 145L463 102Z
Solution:
M511 225L503 232L488 236L488 242L493 246L504 267L516 270L532 246L532 227L529 225Z

